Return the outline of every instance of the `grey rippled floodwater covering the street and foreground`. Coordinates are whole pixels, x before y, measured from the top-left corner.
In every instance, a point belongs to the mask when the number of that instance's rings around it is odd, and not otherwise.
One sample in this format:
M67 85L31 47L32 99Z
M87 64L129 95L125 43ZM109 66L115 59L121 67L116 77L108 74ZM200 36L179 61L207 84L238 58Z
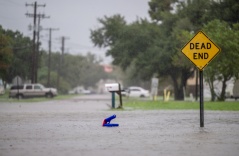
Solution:
M0 156L238 156L239 112L109 110L110 97L0 104ZM116 114L102 127L104 118Z

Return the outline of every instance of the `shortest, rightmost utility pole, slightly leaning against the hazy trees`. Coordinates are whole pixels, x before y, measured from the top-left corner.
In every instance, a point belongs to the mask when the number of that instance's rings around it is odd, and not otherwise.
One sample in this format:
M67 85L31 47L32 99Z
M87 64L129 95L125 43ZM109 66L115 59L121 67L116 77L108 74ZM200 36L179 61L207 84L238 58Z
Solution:
M60 62L58 66L58 74L57 74L57 89L59 89L60 84L60 76L62 76L62 65L64 63L64 51L65 51L65 40L69 39L65 36L61 37L61 56L60 56Z

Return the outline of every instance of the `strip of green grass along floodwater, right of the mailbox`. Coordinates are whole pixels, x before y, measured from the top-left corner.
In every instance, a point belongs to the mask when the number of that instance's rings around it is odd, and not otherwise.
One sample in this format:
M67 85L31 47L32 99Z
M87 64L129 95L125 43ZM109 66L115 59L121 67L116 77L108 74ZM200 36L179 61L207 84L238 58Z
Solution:
M199 102L190 101L137 101L128 100L124 108L139 110L199 110ZM208 102L204 101L204 110L239 111L238 101Z

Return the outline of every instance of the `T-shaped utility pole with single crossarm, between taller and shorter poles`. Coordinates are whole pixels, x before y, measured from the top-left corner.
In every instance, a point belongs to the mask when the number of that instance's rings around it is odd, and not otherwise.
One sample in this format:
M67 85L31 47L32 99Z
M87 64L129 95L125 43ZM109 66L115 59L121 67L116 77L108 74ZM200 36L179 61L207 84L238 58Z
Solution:
M59 30L59 28L47 28L45 30L49 30L49 41L48 41L48 48L49 48L49 55L48 55L48 74L47 74L47 86L51 87L51 36L52 31Z

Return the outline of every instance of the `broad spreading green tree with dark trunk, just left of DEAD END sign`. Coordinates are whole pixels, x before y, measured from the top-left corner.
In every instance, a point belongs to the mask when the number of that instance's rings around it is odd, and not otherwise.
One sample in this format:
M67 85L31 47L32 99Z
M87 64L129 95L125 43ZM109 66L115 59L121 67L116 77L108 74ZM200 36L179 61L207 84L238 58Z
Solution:
M106 44L110 47L107 55L114 58L113 64L121 66L124 70L133 64L135 77L139 75L144 80L150 80L155 74L161 77L170 76L174 82L175 99L182 100L184 98L183 87L192 75L192 65L190 64L189 67L174 65L173 56L179 52L180 46L183 46L181 41L185 41L185 38L180 40L180 43L173 38L172 25L176 24L177 17L172 14L167 16L170 17L166 18L167 20L161 25L141 19L122 26L120 31L117 30L117 34L115 32L111 34L111 29L107 31L109 27L117 27L113 26L116 22L111 22L116 16L111 17L112 19L105 17L100 20L103 26L92 31L94 33L91 38L95 45L101 46L102 42L98 43L94 39L96 33L101 33L97 36L102 36L103 42L106 40L114 43ZM102 33L100 30L105 30L105 32ZM111 42L112 38L114 41Z

